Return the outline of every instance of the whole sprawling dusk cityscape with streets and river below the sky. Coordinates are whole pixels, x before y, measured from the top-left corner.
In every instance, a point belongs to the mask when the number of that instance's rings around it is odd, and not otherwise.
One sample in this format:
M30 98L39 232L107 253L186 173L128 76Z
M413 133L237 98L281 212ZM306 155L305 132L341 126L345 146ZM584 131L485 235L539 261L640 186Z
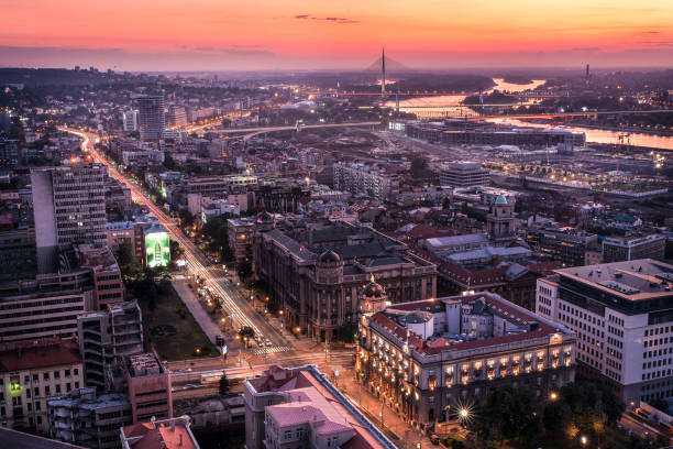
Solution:
M7 48L8 449L673 446L671 59Z

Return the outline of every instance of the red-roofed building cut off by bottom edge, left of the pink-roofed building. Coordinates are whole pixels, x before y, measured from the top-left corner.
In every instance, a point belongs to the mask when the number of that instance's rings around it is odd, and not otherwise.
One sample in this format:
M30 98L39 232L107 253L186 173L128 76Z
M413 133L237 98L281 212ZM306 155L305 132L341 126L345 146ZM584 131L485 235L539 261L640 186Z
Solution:
M186 415L124 426L120 434L122 449L199 449Z

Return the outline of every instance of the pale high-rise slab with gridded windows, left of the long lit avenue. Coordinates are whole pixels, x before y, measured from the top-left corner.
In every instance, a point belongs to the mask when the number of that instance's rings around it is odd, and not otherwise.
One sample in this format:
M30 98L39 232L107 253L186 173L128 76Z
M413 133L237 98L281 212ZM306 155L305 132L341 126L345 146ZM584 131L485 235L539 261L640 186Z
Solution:
M56 270L58 247L106 244L104 176L99 164L31 171L38 273Z

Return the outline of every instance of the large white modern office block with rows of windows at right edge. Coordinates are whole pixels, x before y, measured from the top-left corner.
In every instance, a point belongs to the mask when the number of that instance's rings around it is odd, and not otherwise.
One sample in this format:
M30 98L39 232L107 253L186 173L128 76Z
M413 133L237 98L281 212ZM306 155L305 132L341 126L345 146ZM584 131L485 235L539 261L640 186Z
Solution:
M577 373L626 404L673 397L673 265L652 259L556 270L537 313L577 335Z

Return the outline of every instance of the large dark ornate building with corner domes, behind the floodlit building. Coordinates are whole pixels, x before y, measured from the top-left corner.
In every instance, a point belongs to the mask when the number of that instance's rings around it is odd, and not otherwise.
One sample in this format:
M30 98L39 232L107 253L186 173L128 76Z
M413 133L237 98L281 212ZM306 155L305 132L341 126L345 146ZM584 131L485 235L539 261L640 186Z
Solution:
M354 326L372 276L393 303L433 297L437 267L398 240L344 221L304 219L275 227L257 217L254 271L283 308L288 329L329 342Z

